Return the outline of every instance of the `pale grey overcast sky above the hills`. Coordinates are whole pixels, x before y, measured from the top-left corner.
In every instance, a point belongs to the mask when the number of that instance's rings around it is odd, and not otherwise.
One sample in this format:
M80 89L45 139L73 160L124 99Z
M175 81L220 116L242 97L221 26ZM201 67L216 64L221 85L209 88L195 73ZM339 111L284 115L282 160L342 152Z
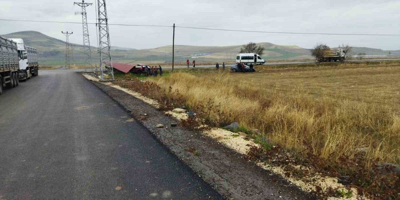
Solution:
M95 0L86 0L94 3ZM73 0L0 0L0 18L82 22ZM400 34L400 1L389 0L107 0L110 24L194 26L272 32ZM87 8L95 22L95 6ZM70 42L82 44L81 24L0 21L0 34L35 30L65 40L61 31L74 32ZM89 25L96 46L96 28ZM172 28L110 26L112 46L155 48L172 44ZM399 50L400 36L332 36L225 32L176 28L175 44L228 46L271 42L311 48L317 42Z

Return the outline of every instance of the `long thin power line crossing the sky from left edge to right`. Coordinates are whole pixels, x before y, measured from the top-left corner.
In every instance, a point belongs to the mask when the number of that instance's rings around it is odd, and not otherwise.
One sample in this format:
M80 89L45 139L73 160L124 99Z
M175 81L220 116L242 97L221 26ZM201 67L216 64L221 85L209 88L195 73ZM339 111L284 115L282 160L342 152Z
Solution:
M19 21L19 22L52 22L52 23L66 23L66 24L81 24L79 22L58 22L58 21L38 21L38 20L9 20L0 19L3 21ZM96 23L88 23L96 24ZM172 26L160 26L160 25L140 25L140 24L108 24L115 26L149 26L149 27L171 27ZM400 34L345 34L345 33L306 33L306 32L272 32L272 31L252 31L252 30L232 30L232 29L220 29L220 28L199 28L189 26L175 26L176 28L190 28L190 29L202 29L202 30L221 30L221 31L232 31L232 32L254 32L254 33L275 33L275 34L311 34L311 35L348 35L348 36L400 36Z

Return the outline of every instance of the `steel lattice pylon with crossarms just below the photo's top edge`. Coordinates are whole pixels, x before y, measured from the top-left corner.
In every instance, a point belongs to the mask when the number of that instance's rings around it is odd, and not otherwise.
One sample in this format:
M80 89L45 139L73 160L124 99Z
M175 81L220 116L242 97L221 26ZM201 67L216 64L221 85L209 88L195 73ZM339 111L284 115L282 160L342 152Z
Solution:
M83 53L86 55L85 72L88 71L89 67L93 71L92 52L90 51L88 21L86 20L86 7L92 5L92 3L85 3L85 1L82 0L82 3L74 2L74 5L75 4L80 6L80 7L82 7L82 12L75 12L75 14L81 14L82 15L83 48L84 48ZM97 68L96 68L96 71L97 71Z

